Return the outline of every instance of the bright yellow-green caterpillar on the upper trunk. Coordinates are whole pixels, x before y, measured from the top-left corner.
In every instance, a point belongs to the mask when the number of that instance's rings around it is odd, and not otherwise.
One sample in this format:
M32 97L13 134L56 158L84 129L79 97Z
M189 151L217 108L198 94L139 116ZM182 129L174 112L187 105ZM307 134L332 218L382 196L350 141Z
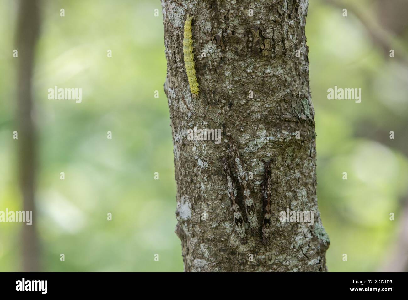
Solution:
M191 20L193 17L187 15L186 22L184 23L184 39L183 39L183 53L184 64L186 66L186 72L188 77L188 84L190 84L190 91L194 97L198 96L198 82L195 77L194 69L194 54L193 54L193 35L191 34Z

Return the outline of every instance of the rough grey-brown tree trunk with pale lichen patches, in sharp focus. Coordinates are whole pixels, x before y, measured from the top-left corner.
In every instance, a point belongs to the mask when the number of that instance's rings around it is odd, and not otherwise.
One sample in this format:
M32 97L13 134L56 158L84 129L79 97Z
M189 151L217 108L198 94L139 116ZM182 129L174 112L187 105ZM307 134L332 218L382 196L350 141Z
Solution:
M162 0L176 233L185 271L327 270L329 240L316 197L315 112L304 31L307 2ZM253 16L248 16L250 9ZM191 96L183 61L187 14L194 16L197 98ZM222 129L221 143L187 140L187 130L194 127ZM228 139L237 144L246 171L253 172L249 181L259 232L248 229L244 213L246 242L235 231L223 172L223 159L231 161ZM261 232L264 162L270 162L273 184L272 233L266 244ZM237 170L231 172L236 181ZM242 203L242 189L237 198ZM287 208L313 211L314 224L280 222L279 212Z

